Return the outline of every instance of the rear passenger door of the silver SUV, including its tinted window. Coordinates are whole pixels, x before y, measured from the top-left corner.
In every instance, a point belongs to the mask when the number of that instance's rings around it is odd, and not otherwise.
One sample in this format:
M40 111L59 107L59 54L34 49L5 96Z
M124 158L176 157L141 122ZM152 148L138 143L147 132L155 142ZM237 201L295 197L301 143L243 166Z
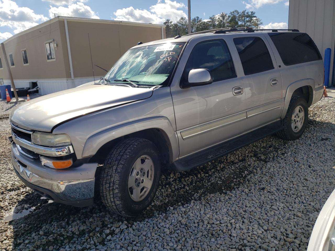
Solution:
M245 84L247 128L252 130L279 119L282 79L264 34L236 35L233 43L240 56Z

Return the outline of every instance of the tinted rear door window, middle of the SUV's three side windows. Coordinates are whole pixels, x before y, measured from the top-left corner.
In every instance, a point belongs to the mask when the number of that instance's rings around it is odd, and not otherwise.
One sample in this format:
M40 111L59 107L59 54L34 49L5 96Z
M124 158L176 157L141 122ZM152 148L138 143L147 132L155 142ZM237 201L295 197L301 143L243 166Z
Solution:
M274 69L268 49L260 37L238 37L234 43L245 75Z

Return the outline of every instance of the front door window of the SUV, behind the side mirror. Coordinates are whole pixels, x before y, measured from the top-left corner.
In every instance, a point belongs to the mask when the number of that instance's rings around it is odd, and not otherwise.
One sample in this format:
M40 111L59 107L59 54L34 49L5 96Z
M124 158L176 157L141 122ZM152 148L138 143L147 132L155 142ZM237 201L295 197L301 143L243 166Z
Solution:
M206 68L213 81L236 77L229 50L223 39L209 40L197 44L186 63L188 74L192 69Z

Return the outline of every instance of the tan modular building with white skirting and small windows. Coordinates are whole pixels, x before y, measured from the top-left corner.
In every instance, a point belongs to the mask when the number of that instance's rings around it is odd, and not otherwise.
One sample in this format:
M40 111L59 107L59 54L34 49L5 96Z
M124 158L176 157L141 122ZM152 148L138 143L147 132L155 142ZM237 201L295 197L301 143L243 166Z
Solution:
M3 42L0 79L10 84L10 70L16 88L37 81L42 95L73 88L93 81L92 64L99 79L106 72L97 66L109 70L139 41L161 38L165 25L57 16Z

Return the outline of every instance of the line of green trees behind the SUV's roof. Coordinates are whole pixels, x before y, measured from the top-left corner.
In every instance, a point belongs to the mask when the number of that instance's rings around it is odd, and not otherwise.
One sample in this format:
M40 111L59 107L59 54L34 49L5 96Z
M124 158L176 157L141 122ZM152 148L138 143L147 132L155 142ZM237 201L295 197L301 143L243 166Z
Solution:
M176 23L170 19L166 19L164 24L166 37L175 37L177 35L188 34L188 20L185 17L180 18ZM227 28L227 27L250 27L260 29L263 22L256 16L255 11L230 11L229 14L221 12L217 15L212 15L208 20L196 16L191 20L191 31L198 32L209 29Z

